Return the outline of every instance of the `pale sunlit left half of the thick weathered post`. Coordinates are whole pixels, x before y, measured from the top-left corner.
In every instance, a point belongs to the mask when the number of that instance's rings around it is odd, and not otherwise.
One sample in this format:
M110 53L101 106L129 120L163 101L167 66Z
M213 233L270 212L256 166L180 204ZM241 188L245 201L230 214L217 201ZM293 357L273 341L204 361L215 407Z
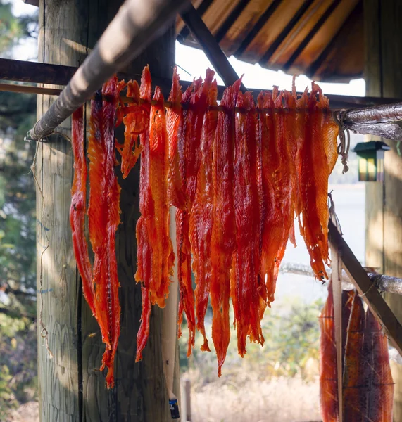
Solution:
M65 39L77 40L82 27L82 15L77 13L75 1L42 0L40 4L39 60L47 63L77 66L82 57L70 49ZM42 115L54 97L42 96L38 115ZM70 122L59 129L70 136ZM51 136L49 143L39 145L37 179L37 254L39 319L48 331L49 347L39 336L39 391L42 421L79 421L82 407L80 395L80 362L77 332L80 314L77 297L80 285L73 257L70 234L70 187L73 177L73 158L70 143L63 136ZM42 212L43 210L43 212ZM42 250L46 251L42 256ZM42 262L41 262L42 256ZM39 324L39 335L40 335Z

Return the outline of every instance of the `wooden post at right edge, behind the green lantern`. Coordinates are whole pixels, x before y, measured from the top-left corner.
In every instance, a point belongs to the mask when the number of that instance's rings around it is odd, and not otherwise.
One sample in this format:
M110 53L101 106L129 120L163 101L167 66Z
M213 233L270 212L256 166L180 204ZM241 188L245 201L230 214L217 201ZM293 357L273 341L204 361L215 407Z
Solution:
M365 0L366 94L402 98L402 3ZM402 276L402 157L396 142L384 158L384 184L366 184L366 262L383 274ZM387 294L387 301L402 321L402 298ZM392 366L394 421L402 420L402 368Z

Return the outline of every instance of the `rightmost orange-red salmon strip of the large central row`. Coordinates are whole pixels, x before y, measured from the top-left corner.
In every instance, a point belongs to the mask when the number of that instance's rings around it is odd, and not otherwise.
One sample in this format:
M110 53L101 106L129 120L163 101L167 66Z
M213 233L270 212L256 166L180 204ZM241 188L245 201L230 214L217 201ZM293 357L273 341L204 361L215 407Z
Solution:
M324 263L329 264L327 193L329 174L337 160L337 135L337 124L329 113L329 101L313 82L305 137L299 151L299 224L310 253L311 267L318 279L328 278L324 267Z

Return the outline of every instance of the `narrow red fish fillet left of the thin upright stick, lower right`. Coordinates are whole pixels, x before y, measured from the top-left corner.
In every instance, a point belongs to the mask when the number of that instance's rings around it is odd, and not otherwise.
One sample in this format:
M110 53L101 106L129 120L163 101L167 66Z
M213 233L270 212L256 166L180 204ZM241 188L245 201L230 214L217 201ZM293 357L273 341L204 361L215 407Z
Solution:
M329 283L328 298L320 314L320 410L322 422L338 420L337 348L335 345L334 297Z

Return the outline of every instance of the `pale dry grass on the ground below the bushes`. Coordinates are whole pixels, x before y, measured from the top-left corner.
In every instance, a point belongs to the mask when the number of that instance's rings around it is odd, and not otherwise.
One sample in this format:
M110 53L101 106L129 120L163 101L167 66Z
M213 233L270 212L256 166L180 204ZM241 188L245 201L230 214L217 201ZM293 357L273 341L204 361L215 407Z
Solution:
M186 376L194 378L196 373ZM191 422L320 421L318 380L305 383L296 376L260 381L258 374L249 374L237 383L192 385Z

